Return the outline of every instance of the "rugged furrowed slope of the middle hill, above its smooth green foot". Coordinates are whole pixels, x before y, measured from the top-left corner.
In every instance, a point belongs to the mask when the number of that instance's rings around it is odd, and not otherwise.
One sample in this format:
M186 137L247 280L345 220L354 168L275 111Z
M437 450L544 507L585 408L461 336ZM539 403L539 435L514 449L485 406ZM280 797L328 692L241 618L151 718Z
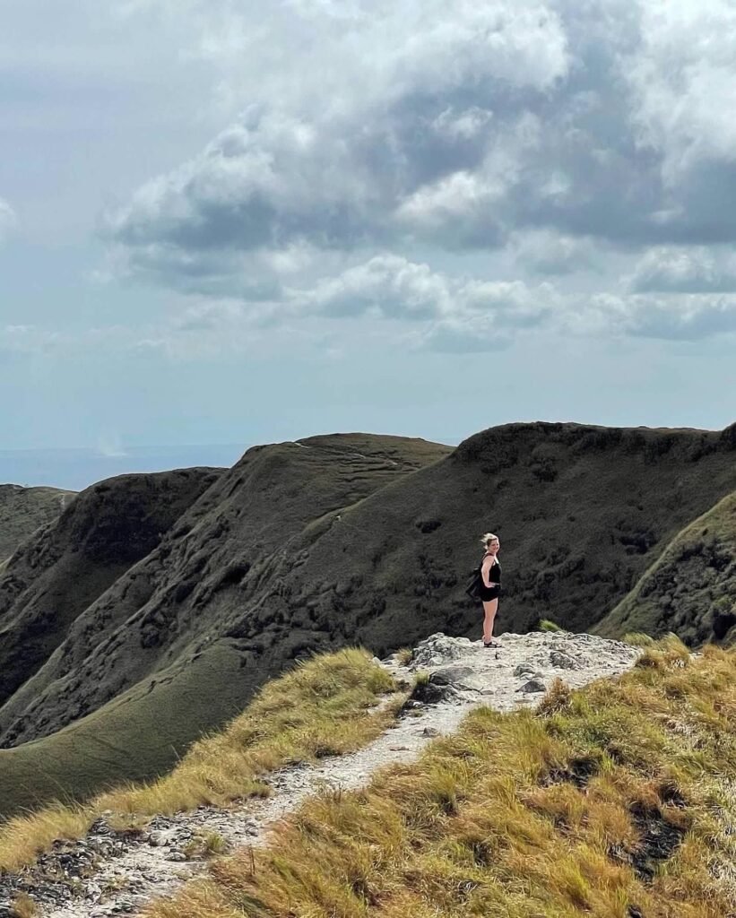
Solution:
M261 604L275 588L274 572L292 563L287 544L324 514L449 452L423 440L361 434L251 448L144 561L125 577L120 571L84 611L75 605L63 642L0 709L0 744L52 733L170 666L167 679L156 682L162 695L165 686L177 687L170 719L191 729L191 712L180 710L179 677L186 681L194 667L213 692L208 703L220 722L232 713L233 692L240 707L284 661L331 638L330 622L321 633L307 628L282 637L283 621L266 624L260 642L229 638L231 622L247 603ZM24 599L19 614L38 621ZM166 710L158 701L157 710Z

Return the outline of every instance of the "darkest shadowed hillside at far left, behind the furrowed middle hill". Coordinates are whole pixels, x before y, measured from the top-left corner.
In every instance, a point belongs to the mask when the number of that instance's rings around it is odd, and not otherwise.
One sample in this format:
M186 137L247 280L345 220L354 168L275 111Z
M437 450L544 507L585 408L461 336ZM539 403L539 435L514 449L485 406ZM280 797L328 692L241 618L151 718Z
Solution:
M99 482L18 547L0 573L0 702L48 660L91 602L156 547L220 471Z

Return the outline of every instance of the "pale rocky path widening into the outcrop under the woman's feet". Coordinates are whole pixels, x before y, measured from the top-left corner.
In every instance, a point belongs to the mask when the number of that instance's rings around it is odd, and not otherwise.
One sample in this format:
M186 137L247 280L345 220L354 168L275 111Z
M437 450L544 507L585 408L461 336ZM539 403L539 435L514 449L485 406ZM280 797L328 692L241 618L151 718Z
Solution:
M128 834L111 829L103 816L81 841L59 841L32 867L0 876L0 918L16 914L18 893L36 902L39 918L134 914L202 873L212 854L264 844L269 826L307 794L325 785L360 787L377 768L415 758L432 737L452 733L474 707L533 707L555 677L580 687L623 672L639 655L629 644L591 634L509 633L498 641L498 649L488 649L480 641L433 634L411 660L388 657L382 665L397 678L409 681L426 671L429 680L373 744L350 756L274 772L267 777L273 789L267 800L157 816L145 830Z

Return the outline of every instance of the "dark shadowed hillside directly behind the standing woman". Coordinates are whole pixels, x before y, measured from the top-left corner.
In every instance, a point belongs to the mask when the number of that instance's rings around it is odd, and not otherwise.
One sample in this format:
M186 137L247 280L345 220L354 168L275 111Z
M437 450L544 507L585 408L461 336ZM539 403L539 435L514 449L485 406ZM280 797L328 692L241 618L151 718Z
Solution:
M343 640L357 635L379 653L440 630L477 638L464 575L490 530L501 539L505 585L498 633L541 617L584 631L734 486L736 426L491 428L306 531L268 621L332 621ZM233 633L257 640L265 623L264 607Z

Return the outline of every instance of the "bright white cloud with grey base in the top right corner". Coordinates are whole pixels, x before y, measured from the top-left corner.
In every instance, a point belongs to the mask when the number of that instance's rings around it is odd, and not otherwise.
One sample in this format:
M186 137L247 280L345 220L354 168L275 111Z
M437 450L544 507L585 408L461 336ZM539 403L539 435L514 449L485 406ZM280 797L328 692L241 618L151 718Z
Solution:
M663 184L652 219L664 239L736 237L736 6L704 0L642 6L629 60L631 122Z

